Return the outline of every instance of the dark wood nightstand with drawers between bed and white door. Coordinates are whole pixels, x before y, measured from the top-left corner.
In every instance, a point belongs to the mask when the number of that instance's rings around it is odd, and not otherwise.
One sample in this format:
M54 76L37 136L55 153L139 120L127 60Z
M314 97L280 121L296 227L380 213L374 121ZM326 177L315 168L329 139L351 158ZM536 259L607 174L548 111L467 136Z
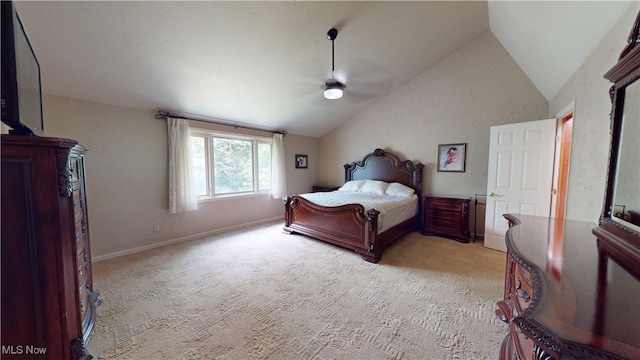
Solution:
M469 203L467 197L425 196L422 234L440 235L469 242Z

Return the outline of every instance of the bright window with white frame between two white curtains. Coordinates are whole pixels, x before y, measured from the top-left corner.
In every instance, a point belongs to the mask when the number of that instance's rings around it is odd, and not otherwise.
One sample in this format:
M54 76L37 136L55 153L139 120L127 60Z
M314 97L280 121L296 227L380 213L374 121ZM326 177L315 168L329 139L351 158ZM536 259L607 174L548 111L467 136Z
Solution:
M271 191L270 138L191 131L198 198Z

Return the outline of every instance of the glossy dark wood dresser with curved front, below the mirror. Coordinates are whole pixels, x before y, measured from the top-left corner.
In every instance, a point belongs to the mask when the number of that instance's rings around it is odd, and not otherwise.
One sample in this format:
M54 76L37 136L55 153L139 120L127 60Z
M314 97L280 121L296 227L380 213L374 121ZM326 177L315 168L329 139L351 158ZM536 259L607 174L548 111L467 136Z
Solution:
M506 218L500 359L640 359L640 279L598 251L596 224Z

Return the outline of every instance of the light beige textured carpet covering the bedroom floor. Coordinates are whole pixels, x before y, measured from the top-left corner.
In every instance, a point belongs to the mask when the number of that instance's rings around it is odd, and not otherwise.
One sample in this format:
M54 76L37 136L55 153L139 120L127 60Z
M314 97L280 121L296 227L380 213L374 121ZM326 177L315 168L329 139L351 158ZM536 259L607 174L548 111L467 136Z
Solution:
M378 264L282 223L94 263L99 359L496 359L504 253L412 233Z

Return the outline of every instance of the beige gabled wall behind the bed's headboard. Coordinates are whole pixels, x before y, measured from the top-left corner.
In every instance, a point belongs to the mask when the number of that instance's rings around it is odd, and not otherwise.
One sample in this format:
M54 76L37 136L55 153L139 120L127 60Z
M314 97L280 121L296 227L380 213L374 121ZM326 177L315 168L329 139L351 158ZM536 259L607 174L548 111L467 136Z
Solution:
M547 109L487 32L323 137L319 179L342 183L342 164L381 147L426 165L425 194L484 194L490 127L544 119ZM448 143L467 143L466 172L436 171L438 144Z

